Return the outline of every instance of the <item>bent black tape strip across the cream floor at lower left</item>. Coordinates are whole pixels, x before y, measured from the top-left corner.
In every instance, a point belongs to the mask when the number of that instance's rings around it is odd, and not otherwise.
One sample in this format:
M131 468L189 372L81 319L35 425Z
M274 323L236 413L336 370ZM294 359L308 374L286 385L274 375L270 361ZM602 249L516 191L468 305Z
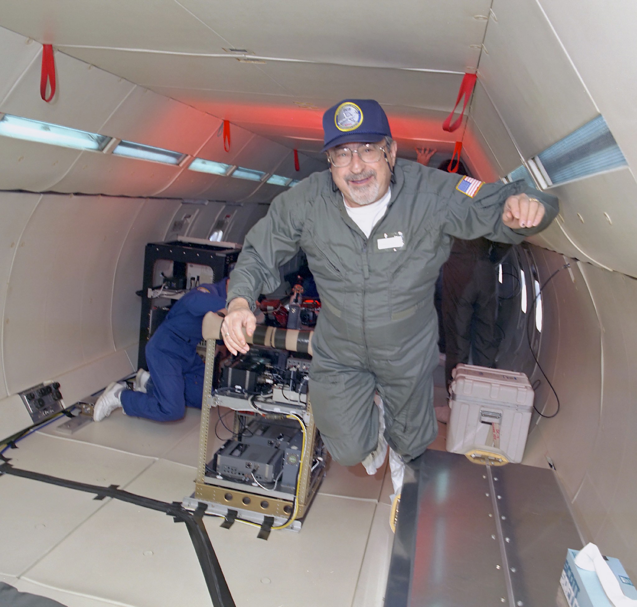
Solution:
M201 514L199 514L198 510L196 514L193 514L189 510L183 508L180 503L175 502L169 504L167 502L159 501L158 499L138 496L134 493L117 489L116 485L111 485L110 487L99 487L98 485L78 483L76 481L67 480L66 478L45 475L39 472L21 470L19 468L13 468L9 462L3 462L0 464L0 476L5 474L19 476L20 478L38 480L50 485L66 487L67 489L94 493L96 494L96 499L112 497L113 499L119 499L120 501L135 504L142 508L164 512L173 517L176 521L184 522L190 535L192 546L197 554L197 559L199 559L201 571L203 572L204 579L206 580L206 585L208 586L208 592L210 592L213 607L236 607L233 597L230 594L230 589L225 581L224 573L221 570L219 561L217 560L217 555L215 554L215 550L210 542L210 537L208 537L206 527L203 524L203 520L201 520Z

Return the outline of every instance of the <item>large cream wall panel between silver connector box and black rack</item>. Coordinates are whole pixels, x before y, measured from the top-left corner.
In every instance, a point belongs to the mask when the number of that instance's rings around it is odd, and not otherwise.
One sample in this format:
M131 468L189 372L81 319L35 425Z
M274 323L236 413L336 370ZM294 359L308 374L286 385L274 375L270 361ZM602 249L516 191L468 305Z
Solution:
M113 278L138 204L61 194L38 204L13 262L4 311L10 393L115 351Z

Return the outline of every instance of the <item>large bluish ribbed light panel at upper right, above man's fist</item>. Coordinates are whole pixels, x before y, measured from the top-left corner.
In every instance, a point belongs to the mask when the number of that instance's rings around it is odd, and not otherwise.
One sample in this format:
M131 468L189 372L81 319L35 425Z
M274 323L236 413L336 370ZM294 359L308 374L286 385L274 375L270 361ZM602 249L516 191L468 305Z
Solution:
M624 154L601 115L540 152L533 161L547 185L626 165Z

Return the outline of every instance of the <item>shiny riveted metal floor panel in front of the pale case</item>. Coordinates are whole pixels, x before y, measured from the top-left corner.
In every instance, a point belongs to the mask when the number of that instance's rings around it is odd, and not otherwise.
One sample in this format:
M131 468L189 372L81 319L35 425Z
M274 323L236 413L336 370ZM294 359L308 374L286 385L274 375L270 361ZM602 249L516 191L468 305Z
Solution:
M408 468L386 607L549 607L582 541L552 470L427 451Z

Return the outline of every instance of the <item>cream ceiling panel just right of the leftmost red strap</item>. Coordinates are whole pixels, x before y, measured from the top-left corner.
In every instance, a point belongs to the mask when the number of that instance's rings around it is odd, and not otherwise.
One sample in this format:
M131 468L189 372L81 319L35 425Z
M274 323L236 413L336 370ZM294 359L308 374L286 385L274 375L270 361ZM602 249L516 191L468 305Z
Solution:
M60 48L73 57L148 89L174 87L264 95L288 92L263 72L263 64L241 63L231 55L205 57L110 48Z

